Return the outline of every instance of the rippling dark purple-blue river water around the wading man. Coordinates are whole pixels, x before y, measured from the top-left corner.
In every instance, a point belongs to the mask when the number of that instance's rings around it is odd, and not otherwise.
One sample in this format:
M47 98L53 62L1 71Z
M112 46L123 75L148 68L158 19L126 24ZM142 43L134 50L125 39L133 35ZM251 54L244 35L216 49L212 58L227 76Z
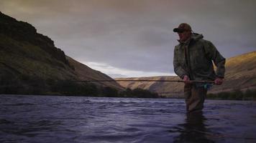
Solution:
M256 102L0 95L0 142L256 142Z

